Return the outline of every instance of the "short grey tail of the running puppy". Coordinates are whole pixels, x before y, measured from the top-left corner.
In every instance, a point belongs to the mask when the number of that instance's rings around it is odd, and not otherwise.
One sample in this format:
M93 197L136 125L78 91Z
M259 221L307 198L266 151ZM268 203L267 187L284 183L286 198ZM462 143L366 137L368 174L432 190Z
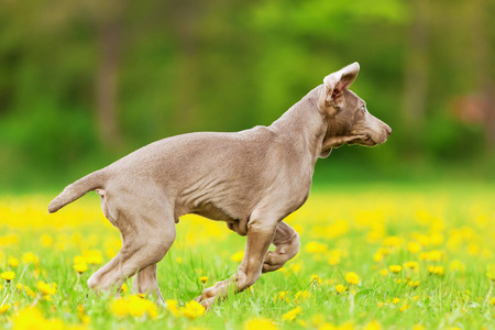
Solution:
M64 191L61 193L48 206L48 213L58 211L61 208L76 199L85 196L88 191L95 190L97 188L103 188L107 175L103 169L88 174L87 176L78 179L72 185L65 187Z

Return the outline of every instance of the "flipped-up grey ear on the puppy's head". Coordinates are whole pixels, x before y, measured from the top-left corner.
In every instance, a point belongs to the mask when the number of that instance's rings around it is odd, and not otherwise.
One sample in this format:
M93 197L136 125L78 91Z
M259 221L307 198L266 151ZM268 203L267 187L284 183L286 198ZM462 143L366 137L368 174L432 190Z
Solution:
M337 106L340 101L340 96L349 89L354 82L355 77L360 73L360 64L354 62L346 67L324 77L324 91L327 94L327 103L329 106Z

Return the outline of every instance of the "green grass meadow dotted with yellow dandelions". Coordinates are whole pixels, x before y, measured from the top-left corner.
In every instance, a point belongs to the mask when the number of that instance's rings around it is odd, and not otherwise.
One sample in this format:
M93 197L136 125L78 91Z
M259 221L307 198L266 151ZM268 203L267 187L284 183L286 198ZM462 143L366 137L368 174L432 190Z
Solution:
M495 329L495 189L321 186L287 222L299 254L212 310L191 301L231 276L245 238L183 217L158 265L167 304L96 297L88 277L120 249L95 193L46 215L51 195L0 198L0 328Z

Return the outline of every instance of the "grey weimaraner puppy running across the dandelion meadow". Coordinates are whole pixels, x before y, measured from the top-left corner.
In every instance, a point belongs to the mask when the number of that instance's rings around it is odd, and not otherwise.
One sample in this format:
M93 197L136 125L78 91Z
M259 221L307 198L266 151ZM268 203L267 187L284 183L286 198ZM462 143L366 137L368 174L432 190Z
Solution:
M48 212L96 190L105 217L122 234L121 251L88 286L96 293L116 292L138 274L134 290L163 299L156 263L186 213L226 221L248 235L237 274L197 298L206 308L224 298L229 285L242 292L262 273L280 268L299 250L298 234L283 220L308 198L318 157L344 143L384 143L392 132L349 90L359 70L353 63L324 77L270 127L167 138L67 186ZM268 252L271 244L276 251Z

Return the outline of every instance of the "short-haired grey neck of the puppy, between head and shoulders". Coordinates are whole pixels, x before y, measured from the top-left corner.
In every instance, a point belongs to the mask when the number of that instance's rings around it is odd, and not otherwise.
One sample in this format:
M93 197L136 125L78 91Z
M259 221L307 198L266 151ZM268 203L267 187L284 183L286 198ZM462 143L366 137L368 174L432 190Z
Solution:
M322 85L309 91L270 127L277 134L294 141L294 148L302 154L309 152L312 166L323 147L323 139L328 124L324 114L319 110Z

